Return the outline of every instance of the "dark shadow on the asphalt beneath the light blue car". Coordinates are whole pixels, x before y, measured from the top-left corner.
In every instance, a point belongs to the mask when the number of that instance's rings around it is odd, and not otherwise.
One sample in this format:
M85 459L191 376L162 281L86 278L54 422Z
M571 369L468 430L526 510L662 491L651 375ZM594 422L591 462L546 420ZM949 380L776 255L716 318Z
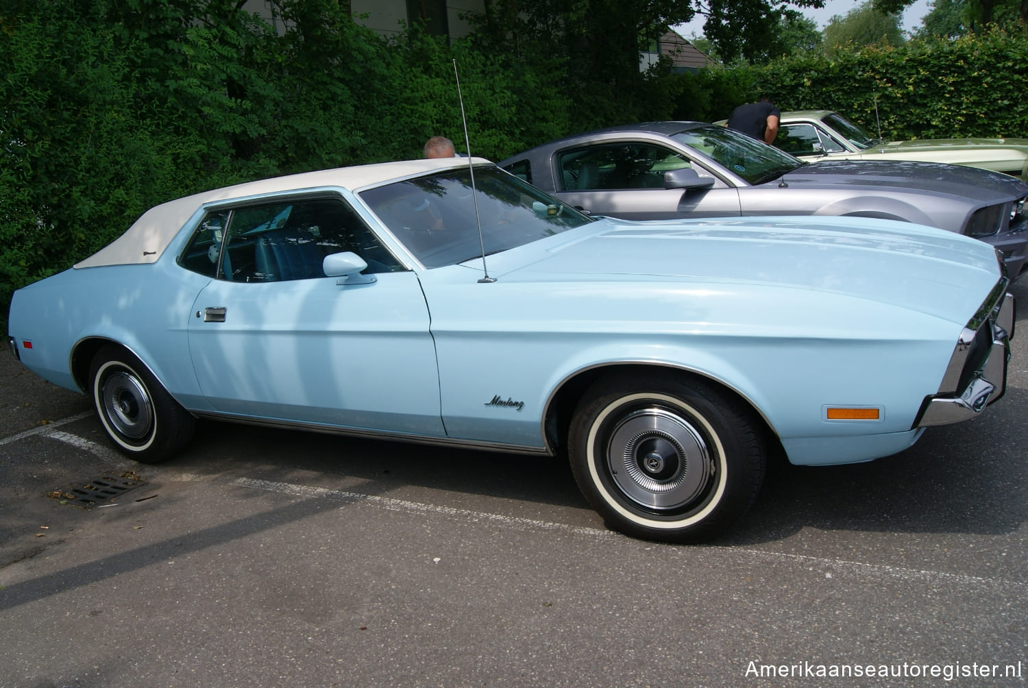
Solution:
M747 515L719 544L787 538L807 527L825 531L1001 535L1028 519L1026 468L1016 445L999 441L1028 392L1008 390L982 419L929 428L910 449L865 464L769 466ZM1000 411L1000 412L996 412ZM175 460L204 473L210 458L266 480L359 486L391 496L409 487L517 500L591 511L566 462L310 434L221 423L200 426L192 450ZM203 448L199 448L203 447ZM199 450L197 451L197 448ZM316 476L316 477L311 477ZM458 498L457 498L458 499ZM595 518L599 526L598 516Z

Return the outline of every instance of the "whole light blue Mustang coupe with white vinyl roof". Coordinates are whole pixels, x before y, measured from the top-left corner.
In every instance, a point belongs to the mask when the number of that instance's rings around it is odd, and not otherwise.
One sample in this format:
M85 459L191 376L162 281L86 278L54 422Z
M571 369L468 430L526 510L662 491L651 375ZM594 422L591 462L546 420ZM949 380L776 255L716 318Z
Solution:
M157 206L19 290L9 340L139 461L197 417L566 454L611 528L695 542L772 452L869 461L998 399L1006 287L994 249L930 227L594 218L414 160Z

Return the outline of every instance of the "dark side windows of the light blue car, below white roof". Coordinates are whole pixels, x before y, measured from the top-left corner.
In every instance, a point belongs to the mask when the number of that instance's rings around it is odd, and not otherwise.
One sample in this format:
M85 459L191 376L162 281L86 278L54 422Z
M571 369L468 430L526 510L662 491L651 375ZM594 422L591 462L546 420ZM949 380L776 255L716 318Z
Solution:
M364 259L365 273L403 269L348 205L328 197L212 212L180 263L221 280L284 282L325 277L325 256L342 251Z

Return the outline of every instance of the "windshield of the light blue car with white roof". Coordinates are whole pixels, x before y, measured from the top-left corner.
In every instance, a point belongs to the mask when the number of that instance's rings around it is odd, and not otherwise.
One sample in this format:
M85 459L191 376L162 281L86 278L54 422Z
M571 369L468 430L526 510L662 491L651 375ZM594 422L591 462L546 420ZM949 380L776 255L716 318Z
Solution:
M483 245L488 255L593 221L494 167L475 168L475 189L470 171L461 168L378 186L360 196L426 267L479 257Z

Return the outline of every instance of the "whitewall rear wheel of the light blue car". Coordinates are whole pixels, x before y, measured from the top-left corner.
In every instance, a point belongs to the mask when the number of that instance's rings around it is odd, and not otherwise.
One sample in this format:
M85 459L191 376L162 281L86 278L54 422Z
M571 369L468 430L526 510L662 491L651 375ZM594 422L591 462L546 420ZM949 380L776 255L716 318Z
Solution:
M104 431L136 461L170 459L192 437L193 417L121 347L108 345L97 352L89 388Z

